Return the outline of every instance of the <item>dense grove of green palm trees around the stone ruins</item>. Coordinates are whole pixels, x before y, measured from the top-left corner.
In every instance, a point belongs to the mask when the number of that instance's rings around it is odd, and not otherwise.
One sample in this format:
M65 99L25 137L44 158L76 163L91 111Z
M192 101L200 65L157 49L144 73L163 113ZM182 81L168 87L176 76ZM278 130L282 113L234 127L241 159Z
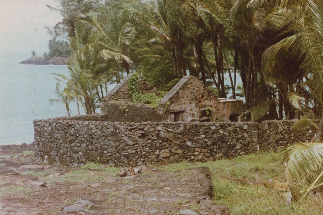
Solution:
M51 32L67 36L73 53L70 76L58 80L88 114L124 74L137 71L161 90L194 75L220 97L244 97L247 120L300 126L321 117L316 143L289 146L286 158L293 197L322 185L322 1L59 2L49 6L63 16Z

